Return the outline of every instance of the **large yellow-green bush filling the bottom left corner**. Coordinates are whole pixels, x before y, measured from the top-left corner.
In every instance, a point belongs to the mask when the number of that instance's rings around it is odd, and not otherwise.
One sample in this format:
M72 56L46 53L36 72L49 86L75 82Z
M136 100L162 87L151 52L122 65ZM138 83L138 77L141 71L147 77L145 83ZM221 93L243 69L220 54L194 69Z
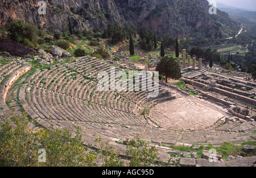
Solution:
M8 121L8 120L7 120ZM93 166L96 155L90 154L82 144L80 128L75 139L68 130L28 130L28 119L15 116L0 126L0 166ZM40 149L46 151L46 162Z

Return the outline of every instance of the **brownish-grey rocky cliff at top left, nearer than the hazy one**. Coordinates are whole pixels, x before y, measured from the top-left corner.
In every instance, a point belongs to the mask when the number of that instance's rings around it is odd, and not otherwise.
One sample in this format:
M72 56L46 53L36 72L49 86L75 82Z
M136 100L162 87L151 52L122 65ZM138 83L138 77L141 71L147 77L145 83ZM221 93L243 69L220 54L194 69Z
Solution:
M46 30L66 31L68 19L74 30L105 28L108 23L124 24L113 0L46 0L46 14L38 13L39 0L0 1L0 24L16 19L37 24Z

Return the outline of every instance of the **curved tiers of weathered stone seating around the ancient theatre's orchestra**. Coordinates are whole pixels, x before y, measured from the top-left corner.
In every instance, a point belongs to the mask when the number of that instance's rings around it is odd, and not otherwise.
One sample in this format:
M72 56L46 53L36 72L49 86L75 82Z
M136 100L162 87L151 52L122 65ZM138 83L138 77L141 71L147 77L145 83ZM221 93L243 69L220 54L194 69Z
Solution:
M212 125L196 131L165 129L150 118L143 117L144 109L157 107L161 102L176 100L170 92L159 87L157 98L148 98L146 92L100 92L97 73L110 73L111 65L96 57L81 57L71 63L57 63L40 68L25 60L1 65L1 115L22 114L32 119L30 128L53 127L69 129L75 134L81 127L85 144L97 136L118 144L134 136L156 145L209 144L225 141L243 143L255 138L255 122L224 122L218 119ZM121 70L116 68L115 72ZM141 85L144 85L143 83Z

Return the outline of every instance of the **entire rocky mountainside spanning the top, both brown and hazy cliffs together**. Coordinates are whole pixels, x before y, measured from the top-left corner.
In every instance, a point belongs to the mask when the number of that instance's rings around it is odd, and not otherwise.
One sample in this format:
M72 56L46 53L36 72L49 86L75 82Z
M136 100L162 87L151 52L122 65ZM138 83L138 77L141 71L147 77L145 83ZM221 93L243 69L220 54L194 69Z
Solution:
M228 14L218 10L208 13L207 0L46 0L46 15L38 14L39 0L3 0L0 2L0 24L15 19L38 24L48 30L66 31L105 28L109 23L133 23L163 35L191 36L193 32L232 33L237 24ZM70 23L68 23L68 19Z

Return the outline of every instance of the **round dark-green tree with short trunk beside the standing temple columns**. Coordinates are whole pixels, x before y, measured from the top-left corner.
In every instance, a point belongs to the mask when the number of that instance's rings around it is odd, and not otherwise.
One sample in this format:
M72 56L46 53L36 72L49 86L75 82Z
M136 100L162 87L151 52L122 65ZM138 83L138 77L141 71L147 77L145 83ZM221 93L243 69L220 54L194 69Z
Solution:
M158 71L160 75L166 77L166 83L168 78L178 80L181 77L180 65L174 57L162 57L160 63L156 67L156 71Z

